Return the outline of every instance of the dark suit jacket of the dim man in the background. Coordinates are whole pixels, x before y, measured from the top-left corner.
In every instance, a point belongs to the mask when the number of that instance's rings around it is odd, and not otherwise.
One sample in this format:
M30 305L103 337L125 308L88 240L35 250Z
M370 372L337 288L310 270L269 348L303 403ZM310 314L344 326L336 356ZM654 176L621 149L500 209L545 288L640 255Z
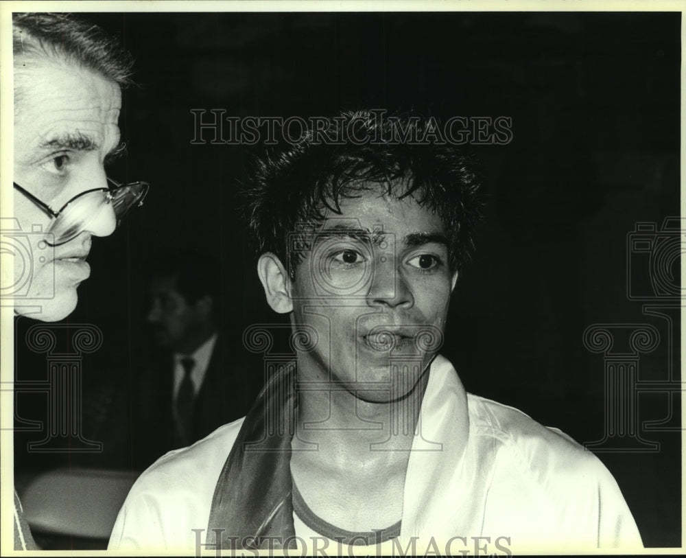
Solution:
M248 353L233 337L217 336L196 394L190 443L244 417L263 385L262 367L257 366L261 358ZM149 365L133 378L131 394L131 463L141 471L178 447L172 400L174 355L152 351L147 360Z

